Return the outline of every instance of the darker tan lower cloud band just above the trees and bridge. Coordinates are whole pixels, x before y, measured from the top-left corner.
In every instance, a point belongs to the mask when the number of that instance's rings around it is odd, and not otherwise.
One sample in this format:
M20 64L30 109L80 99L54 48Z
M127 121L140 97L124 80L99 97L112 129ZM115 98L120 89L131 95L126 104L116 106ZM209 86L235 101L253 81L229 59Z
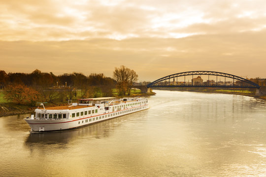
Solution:
M123 64L134 69L140 80L150 81L191 70L264 78L265 36L266 30L179 39L1 41L1 66L6 72L32 72L38 68L55 74L78 71L86 75L103 72L112 76L114 67Z

